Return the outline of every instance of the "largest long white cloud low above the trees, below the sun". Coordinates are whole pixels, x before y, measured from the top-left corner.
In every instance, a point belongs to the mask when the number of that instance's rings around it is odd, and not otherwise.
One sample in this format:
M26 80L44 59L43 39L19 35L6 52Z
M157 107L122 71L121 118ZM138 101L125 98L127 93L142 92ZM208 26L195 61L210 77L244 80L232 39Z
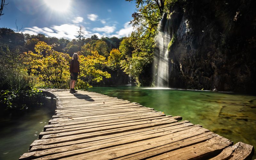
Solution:
M24 28L23 33L28 33L31 35L37 35L38 33L43 33L45 36L57 37L57 38L67 38L74 39L77 36L77 31L79 30L79 26L74 24L62 24L60 26L51 26L51 27L32 27L32 28ZM83 28L84 37L90 37L92 32L86 31Z

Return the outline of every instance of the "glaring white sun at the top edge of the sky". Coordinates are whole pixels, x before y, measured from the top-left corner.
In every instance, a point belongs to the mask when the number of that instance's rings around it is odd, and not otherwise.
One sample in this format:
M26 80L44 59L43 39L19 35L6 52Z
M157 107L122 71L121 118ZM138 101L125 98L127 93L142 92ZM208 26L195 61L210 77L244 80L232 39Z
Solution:
M71 0L44 0L46 5L57 12L66 12Z

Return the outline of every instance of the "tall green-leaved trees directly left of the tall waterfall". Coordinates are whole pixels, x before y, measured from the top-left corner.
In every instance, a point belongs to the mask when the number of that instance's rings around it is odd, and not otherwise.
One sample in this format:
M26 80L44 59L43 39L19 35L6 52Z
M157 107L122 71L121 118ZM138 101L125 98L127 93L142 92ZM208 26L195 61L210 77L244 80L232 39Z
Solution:
M126 0L132 1L132 0ZM134 0L137 12L132 14L134 31L129 39L124 38L120 44L120 51L125 54L126 59L121 63L124 72L132 76L138 85L142 84L141 75L150 70L153 62L153 53L156 46L155 36L157 27L163 13L177 0ZM132 50L132 52L131 52ZM132 53L132 54L131 54ZM140 77L140 78L139 78Z

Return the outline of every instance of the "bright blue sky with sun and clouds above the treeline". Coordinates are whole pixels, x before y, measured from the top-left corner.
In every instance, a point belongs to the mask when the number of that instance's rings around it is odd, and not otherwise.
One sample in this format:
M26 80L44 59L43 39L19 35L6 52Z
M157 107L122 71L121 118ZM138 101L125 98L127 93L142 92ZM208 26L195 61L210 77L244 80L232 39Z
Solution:
M134 2L125 0L5 0L0 27L23 33L73 39L82 26L84 37L128 36L129 21L136 12Z

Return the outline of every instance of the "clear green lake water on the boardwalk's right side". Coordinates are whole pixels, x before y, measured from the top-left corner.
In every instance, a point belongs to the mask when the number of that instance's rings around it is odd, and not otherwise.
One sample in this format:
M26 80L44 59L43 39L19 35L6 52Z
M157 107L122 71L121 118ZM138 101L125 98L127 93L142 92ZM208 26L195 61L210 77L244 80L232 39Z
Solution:
M256 96L136 86L93 87L89 91L137 102L166 115L182 116L234 144L242 141L256 146Z

